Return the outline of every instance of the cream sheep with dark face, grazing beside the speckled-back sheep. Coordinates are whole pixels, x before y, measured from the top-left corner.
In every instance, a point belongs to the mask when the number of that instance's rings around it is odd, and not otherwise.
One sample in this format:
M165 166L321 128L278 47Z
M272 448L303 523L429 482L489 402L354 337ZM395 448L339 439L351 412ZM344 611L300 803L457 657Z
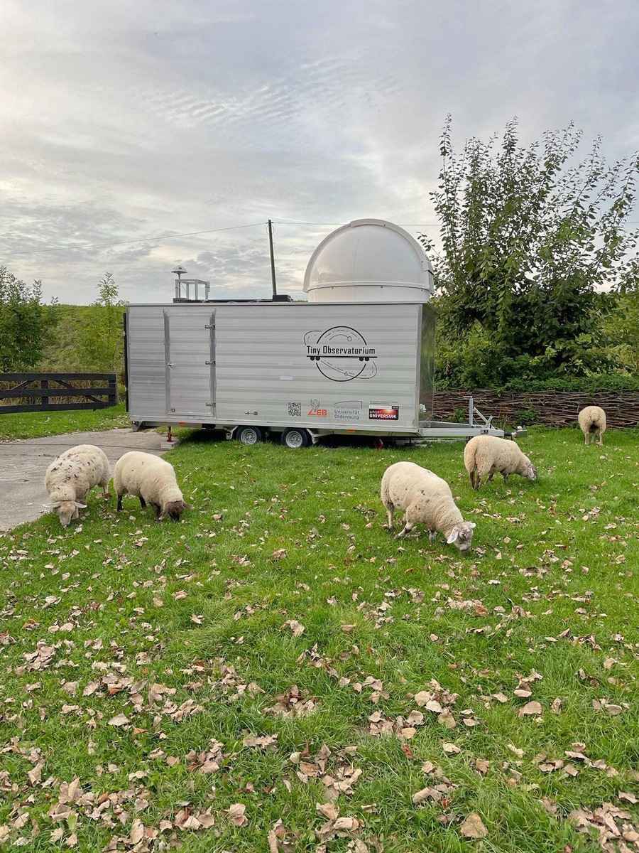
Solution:
M167 515L179 521L185 509L193 509L184 502L173 466L153 453L131 450L120 456L113 471L113 487L118 495L118 512L124 495L139 497L142 509L150 503L158 521Z

